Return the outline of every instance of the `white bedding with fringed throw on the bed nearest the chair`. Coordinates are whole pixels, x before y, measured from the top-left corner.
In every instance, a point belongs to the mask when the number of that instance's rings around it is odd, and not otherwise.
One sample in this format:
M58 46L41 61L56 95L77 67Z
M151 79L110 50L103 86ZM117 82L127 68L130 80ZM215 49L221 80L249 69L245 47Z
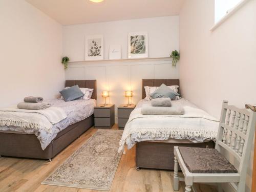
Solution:
M205 111L198 109L184 98L172 101L172 105L184 106L184 115L142 115L141 106L150 101L140 101L127 121L119 152L124 144L130 149L143 140L191 139L203 142L217 137L219 122Z

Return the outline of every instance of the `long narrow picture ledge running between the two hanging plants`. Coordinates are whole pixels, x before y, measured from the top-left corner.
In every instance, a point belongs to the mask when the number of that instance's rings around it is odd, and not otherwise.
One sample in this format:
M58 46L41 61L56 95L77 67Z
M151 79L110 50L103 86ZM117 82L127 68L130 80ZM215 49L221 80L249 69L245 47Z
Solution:
M103 59L103 60L90 60L90 61L70 61L69 65L77 64L93 64L93 63L113 63L113 62L143 62L143 61L172 61L170 57L155 57L155 58L133 58L133 59Z

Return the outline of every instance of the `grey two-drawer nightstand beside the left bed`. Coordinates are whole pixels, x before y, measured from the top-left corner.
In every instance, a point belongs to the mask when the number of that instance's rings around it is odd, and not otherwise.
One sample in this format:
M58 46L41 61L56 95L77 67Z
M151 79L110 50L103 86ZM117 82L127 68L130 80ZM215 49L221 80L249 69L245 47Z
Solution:
M94 107L94 127L97 129L111 129L115 124L115 105L97 105Z

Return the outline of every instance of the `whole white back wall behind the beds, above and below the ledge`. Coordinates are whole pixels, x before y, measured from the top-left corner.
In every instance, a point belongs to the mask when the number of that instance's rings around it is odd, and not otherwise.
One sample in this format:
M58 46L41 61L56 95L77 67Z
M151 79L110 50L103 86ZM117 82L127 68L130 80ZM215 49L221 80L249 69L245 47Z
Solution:
M78 61L69 66L66 79L97 79L97 103L103 102L101 91L108 90L109 102L117 109L127 103L126 90L133 91L133 103L141 99L143 78L179 78L179 67L173 67L171 59L80 62L84 60L86 35L103 35L104 59L109 58L110 45L121 45L122 58L127 58L128 33L140 31L148 33L151 58L169 57L173 50L179 50L178 16L63 26L63 55Z

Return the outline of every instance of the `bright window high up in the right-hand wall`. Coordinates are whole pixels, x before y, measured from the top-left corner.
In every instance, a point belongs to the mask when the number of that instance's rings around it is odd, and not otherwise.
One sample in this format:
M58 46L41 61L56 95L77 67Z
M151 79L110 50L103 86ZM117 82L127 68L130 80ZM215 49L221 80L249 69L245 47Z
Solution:
M213 31L216 29L248 1L249 0L215 0L215 25L210 30Z

